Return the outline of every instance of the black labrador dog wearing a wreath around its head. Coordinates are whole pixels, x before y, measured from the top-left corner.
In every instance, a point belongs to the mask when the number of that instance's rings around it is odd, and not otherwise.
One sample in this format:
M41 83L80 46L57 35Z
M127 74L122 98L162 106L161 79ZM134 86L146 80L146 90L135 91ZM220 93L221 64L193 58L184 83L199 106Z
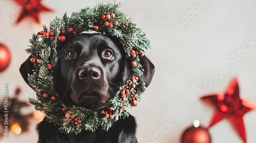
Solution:
M115 37L102 34L76 34L68 37L58 50L58 64L54 69L56 92L66 104L86 108L102 106L114 97L118 84L131 75L130 60L125 58L123 46ZM28 84L32 74L30 58L20 67ZM145 56L140 57L144 76L140 79L148 86L155 67ZM114 122L114 121L113 121ZM59 126L44 120L37 126L38 142L137 142L136 122L132 115L114 122L108 131L82 131L74 135L59 132Z

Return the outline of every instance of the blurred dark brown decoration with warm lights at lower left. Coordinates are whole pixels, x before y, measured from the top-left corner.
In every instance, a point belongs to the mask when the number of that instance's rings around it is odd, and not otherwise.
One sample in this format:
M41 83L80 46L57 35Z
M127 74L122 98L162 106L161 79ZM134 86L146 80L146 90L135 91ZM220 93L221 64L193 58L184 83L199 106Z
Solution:
M20 101L19 98L20 88L16 88L15 95L13 97L8 96L8 110L4 110L3 101L0 102L0 124L6 126L4 124L6 112L8 112L8 131L11 130L16 134L20 134L22 132L27 132L29 127L29 121L32 119L33 114L23 114L20 110L24 107L30 106L30 104L26 101ZM4 96L3 96L4 97ZM0 130L0 136L4 134L4 130Z

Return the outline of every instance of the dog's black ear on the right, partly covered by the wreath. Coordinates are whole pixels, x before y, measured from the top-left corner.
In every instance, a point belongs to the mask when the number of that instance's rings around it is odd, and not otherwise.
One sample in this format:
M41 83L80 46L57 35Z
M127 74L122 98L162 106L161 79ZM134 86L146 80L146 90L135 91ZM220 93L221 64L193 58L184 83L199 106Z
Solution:
M146 56L140 57L140 63L145 71L143 71L143 76L139 78L145 83L145 86L147 87L152 81L153 75L155 73L155 66ZM125 58L122 68L122 82L125 82L127 78L129 78L129 76L132 74L131 61Z

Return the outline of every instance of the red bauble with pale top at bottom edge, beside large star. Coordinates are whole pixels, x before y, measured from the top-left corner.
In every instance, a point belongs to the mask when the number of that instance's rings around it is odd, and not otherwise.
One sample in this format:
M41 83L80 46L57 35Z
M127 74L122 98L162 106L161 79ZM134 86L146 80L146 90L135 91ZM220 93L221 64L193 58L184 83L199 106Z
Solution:
M187 128L182 136L182 143L210 143L211 138L208 130L200 127L199 120L194 121L194 126Z

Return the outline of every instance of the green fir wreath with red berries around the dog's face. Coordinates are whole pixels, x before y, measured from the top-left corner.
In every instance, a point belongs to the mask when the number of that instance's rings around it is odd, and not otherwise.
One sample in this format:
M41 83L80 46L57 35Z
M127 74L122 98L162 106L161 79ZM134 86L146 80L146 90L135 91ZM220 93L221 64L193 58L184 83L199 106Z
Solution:
M56 17L50 22L50 27L43 25L43 30L33 34L30 39L31 62L34 63L33 74L28 75L28 81L36 91L36 99L29 102L36 110L45 113L48 122L60 125L60 132L78 134L81 130L94 132L99 126L103 130L113 124L113 120L129 116L125 107L137 106L142 100L145 84L139 79L143 76L140 56L150 47L150 41L141 29L137 28L130 18L119 11L120 4L98 4L94 8L86 7L73 12L69 17ZM74 105L65 105L54 90L54 68L57 64L57 51L66 37L82 32L97 32L115 36L123 45L126 58L131 60L132 75L122 83L115 97L108 104L96 111Z

